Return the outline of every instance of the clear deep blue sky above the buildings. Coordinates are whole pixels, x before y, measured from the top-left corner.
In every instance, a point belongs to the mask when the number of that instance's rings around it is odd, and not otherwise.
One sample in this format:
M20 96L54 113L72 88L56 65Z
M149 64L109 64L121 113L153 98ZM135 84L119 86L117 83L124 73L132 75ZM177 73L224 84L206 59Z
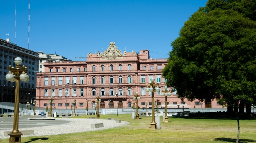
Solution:
M106 50L111 41L122 52L148 49L150 58L168 58L184 22L206 2L30 0L30 50L75 60ZM0 15L0 38L9 33L10 42L28 48L28 0L1 1Z

